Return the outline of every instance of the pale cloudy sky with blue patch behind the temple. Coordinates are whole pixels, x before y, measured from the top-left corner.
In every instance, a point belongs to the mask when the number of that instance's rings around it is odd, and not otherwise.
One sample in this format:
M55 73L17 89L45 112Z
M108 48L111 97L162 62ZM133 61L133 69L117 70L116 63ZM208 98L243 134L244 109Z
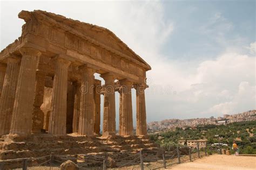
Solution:
M1 50L36 9L106 27L151 65L147 122L256 109L255 1L1 1Z

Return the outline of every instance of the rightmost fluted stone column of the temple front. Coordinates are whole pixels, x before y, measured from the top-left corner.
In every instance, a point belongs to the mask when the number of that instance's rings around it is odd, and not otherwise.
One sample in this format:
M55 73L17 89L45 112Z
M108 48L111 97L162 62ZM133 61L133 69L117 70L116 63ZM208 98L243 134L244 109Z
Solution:
M145 104L145 85L138 84L136 86L136 118L137 127L136 135L147 134L147 122L146 122L146 104Z

